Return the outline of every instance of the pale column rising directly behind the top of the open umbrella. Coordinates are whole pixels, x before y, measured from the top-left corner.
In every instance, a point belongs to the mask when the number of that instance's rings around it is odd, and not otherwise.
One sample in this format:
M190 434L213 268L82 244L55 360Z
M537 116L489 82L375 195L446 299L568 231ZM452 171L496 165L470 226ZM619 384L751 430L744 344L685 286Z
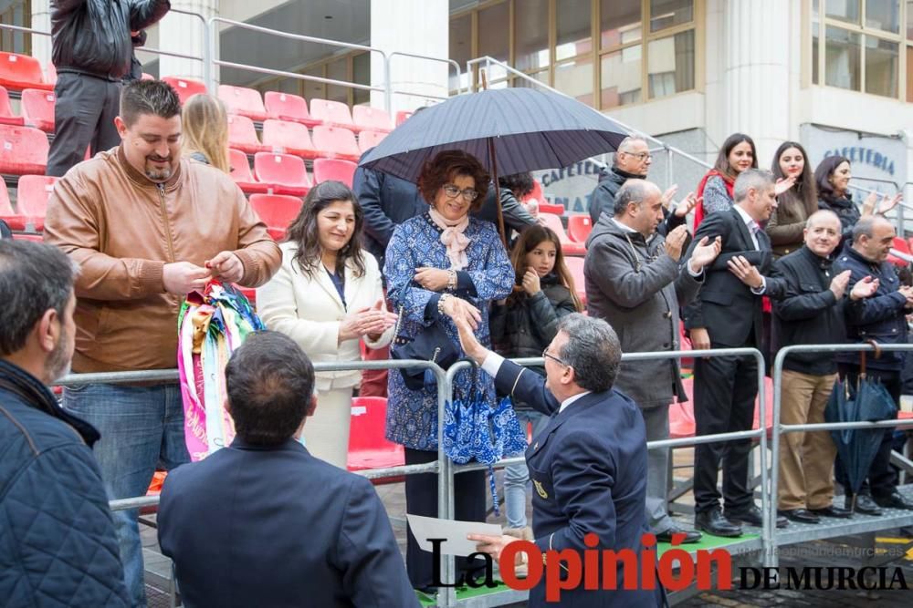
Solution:
M399 51L446 59L450 52L449 20L447 0L372 0L370 46L387 54ZM371 55L372 86L383 87L383 56ZM394 56L390 62L392 90L415 95L392 95L392 108L387 108L384 94L372 91L371 105L386 108L394 116L397 110L411 110L436 101L423 96L446 97L447 69L447 64L440 61Z

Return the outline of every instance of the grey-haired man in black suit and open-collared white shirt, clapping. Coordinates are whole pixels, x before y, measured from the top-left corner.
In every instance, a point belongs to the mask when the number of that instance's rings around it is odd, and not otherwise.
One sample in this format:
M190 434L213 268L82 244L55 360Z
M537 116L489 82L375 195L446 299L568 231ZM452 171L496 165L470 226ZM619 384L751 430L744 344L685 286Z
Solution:
M765 277L771 271L771 241L761 228L776 206L769 171L745 170L734 188L735 205L711 213L701 222L694 242L719 237L717 261L705 268L707 277L698 298L685 309L685 326L696 349L761 345L761 296L782 297L782 280ZM688 249L686 260L694 252ZM694 369L694 414L698 435L750 430L758 395L758 364L750 356L698 358ZM739 522L761 525L761 510L749 487L750 439L695 447L695 527L717 536L740 536ZM719 506L717 472L723 462L723 498ZM778 519L778 526L785 525Z

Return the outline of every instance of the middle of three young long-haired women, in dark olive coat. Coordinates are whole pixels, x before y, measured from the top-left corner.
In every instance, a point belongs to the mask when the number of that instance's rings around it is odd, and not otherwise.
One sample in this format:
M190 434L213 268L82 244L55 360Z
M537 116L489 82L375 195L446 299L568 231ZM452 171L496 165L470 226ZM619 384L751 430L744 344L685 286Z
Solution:
M764 232L771 237L773 254L786 255L803 246L805 221L818 211L818 189L808 154L797 141L784 141L773 154L777 206Z

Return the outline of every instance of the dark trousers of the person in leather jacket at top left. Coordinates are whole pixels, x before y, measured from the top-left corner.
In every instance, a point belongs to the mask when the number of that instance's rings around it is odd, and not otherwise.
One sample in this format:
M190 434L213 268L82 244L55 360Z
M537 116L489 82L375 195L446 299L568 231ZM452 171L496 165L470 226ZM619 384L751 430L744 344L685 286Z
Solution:
M47 175L63 176L86 155L121 143L114 118L121 109L121 83L107 78L62 72L54 86L54 141L47 155Z

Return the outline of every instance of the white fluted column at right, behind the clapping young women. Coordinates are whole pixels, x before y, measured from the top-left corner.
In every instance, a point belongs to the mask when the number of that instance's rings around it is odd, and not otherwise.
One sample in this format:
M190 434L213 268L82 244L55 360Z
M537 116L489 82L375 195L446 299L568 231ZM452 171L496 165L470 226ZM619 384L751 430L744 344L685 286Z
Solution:
M729 0L723 8L726 135L750 135L759 166L768 169L773 152L791 134L791 4Z

